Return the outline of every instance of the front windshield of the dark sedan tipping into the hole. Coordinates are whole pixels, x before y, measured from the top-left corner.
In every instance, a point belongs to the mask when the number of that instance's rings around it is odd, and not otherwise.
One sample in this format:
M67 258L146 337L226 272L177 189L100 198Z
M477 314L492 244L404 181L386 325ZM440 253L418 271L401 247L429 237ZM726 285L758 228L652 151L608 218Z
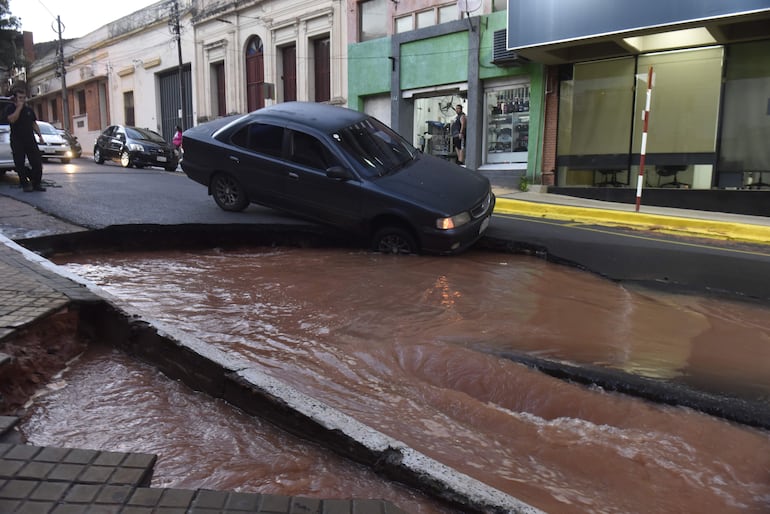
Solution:
M369 176L382 176L403 168L417 150L386 125L369 118L332 134L332 138Z

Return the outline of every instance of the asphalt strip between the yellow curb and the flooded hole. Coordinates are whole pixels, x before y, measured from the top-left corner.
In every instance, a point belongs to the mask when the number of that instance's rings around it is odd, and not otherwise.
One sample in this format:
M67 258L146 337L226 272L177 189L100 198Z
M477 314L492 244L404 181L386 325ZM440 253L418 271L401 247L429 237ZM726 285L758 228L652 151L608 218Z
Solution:
M487 239L619 282L770 303L770 247L496 215Z

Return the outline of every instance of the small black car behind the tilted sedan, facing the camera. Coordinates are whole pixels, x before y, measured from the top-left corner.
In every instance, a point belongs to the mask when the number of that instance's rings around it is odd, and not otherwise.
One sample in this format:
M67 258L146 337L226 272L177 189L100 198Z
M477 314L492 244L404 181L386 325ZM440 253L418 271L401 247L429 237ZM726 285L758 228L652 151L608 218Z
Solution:
M149 129L113 125L107 127L96 139L94 161L119 162L124 168L134 166L158 166L166 171L176 170L179 164L174 145L163 136Z

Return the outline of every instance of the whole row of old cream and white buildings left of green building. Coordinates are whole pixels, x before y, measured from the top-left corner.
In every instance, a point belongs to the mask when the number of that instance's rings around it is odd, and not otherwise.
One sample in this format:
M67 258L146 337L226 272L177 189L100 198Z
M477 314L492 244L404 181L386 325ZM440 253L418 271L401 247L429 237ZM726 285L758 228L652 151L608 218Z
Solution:
M171 141L177 125L273 102L345 105L341 6L164 0L82 38L37 45L44 52L27 74L30 103L39 119L70 129L85 153L114 124Z

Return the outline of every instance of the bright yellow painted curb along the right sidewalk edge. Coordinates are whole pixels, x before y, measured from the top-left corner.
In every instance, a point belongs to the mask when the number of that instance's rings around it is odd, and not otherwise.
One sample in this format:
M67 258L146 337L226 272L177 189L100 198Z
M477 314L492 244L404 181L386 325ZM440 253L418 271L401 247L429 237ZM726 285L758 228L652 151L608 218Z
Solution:
M495 213L770 244L770 227L497 198Z

